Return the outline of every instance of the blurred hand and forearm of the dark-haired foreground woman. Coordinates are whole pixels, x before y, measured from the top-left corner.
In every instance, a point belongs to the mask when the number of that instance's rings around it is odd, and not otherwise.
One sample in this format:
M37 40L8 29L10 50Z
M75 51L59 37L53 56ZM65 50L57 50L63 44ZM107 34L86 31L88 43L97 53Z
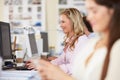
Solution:
M42 80L73 80L72 77L64 73L58 66L45 60L40 60L40 66L36 68Z

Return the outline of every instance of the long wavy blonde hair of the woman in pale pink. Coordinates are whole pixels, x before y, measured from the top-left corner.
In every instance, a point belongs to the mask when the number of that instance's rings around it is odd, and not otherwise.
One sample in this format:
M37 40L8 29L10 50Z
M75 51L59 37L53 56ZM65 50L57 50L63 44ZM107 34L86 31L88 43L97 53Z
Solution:
M63 10L60 15L66 15L68 19L71 20L73 31L74 31L74 39L72 40L71 44L69 45L70 49L74 49L75 42L78 40L79 36L84 34L84 22L81 13L76 8L67 8ZM66 38L64 40L64 43L66 39L68 38L68 34L66 34ZM66 43L65 43L66 46Z

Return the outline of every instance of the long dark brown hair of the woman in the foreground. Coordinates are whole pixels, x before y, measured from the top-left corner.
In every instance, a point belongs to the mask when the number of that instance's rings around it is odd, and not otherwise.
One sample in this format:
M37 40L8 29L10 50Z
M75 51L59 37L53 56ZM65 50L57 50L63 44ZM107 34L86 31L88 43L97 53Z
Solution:
M110 51L116 40L120 38L120 0L95 0L99 5L111 8L114 10L111 22L109 23L109 39L107 45L107 55L104 61L101 80L104 80L107 75L107 70L110 62Z

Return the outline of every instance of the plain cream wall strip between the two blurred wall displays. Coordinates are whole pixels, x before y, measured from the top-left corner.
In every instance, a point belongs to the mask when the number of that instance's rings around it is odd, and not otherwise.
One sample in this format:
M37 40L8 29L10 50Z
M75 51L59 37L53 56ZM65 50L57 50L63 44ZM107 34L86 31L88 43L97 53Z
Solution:
M58 0L47 0L46 9L46 25L49 35L49 46L56 47Z

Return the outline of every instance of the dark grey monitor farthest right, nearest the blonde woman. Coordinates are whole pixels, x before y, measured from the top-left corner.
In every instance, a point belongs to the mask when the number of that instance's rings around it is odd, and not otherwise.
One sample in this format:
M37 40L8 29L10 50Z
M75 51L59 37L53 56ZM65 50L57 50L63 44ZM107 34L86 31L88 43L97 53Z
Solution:
M40 32L41 38L43 39L43 52L48 52L48 33Z

